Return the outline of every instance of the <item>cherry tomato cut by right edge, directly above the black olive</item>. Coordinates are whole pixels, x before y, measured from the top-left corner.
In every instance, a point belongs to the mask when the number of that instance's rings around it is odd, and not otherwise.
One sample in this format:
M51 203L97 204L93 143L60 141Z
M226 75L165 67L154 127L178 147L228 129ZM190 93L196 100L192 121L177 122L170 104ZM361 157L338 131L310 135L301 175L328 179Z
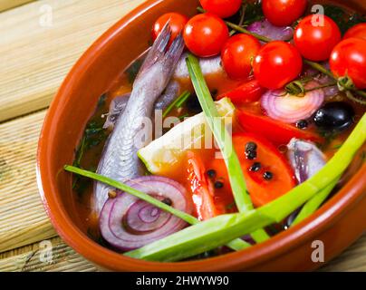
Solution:
M343 40L334 47L329 63L335 76L348 75L358 89L366 89L366 40Z

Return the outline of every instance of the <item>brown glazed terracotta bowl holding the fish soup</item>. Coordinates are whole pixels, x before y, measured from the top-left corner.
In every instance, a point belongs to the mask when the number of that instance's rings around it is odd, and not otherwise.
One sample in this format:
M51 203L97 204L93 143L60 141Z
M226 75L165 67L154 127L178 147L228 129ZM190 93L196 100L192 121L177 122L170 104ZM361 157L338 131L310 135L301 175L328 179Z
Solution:
M102 92L149 43L149 31L159 15L196 13L197 0L149 0L101 36L72 68L53 100L43 124L37 156L38 186L44 207L57 232L75 251L98 266L117 271L303 271L313 263L314 240L322 240L325 259L340 254L366 228L366 166L311 218L244 252L182 263L153 263L121 256L86 235L72 198L74 149ZM345 2L345 1L344 1ZM366 3L347 1L359 11Z

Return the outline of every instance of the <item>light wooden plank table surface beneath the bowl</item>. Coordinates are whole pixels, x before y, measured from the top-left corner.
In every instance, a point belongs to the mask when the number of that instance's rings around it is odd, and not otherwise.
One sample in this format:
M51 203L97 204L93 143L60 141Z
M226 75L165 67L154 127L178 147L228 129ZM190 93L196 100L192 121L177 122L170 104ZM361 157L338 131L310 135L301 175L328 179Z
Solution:
M97 271L57 237L43 210L37 140L72 64L142 2L0 0L0 271ZM53 245L51 263L40 258L44 240ZM366 235L323 270L366 271Z

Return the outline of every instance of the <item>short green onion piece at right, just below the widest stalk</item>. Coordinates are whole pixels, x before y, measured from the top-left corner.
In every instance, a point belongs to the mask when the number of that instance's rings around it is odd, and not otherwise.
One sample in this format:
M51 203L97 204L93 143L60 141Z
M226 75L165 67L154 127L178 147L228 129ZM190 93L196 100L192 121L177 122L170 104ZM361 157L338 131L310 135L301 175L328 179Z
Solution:
M291 224L291 227L294 227L298 223L302 222L305 218L310 217L313 213L322 206L323 202L326 198L329 197L332 190L338 184L339 179L331 182L326 188L322 189L319 193L317 193L313 198L305 203L300 213L294 219L294 222Z

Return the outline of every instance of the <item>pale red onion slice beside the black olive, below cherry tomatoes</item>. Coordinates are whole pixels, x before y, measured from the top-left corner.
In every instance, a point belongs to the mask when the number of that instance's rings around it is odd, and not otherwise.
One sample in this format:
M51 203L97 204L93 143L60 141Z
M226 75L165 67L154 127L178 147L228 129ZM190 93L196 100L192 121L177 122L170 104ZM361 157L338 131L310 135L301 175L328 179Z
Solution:
M308 82L305 88L318 87L318 82ZM285 94L284 91L268 91L261 99L262 108L269 117L285 123L310 118L324 102L322 89L307 92L303 97Z

